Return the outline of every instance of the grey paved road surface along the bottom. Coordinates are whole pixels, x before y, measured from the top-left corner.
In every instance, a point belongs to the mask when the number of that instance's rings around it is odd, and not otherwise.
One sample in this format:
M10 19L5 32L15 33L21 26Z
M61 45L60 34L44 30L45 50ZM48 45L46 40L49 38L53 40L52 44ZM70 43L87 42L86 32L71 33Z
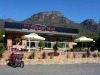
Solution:
M0 75L100 75L100 64L25 65L24 68L0 65Z

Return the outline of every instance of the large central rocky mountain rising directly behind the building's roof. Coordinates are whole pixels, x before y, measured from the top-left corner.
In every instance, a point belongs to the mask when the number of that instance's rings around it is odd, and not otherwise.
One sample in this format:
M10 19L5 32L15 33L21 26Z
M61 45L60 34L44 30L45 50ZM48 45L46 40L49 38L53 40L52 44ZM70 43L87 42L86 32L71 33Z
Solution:
M58 11L40 12L33 14L31 17L25 19L24 23L28 24L42 24L47 26L75 28L79 30L79 34L96 34L96 32L88 29L84 24L78 24L64 17Z

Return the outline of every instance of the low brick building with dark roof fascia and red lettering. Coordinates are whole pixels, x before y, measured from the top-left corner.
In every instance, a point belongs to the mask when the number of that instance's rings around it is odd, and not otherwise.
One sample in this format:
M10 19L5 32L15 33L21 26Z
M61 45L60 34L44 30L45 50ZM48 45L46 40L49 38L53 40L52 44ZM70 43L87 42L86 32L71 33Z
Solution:
M14 39L16 37L21 38L21 46L29 46L29 41L22 39L23 35L30 33L36 33L39 36L45 38L45 48L44 50L53 50L53 45L56 41L64 44L64 48L73 48L73 38L72 36L78 35L77 29L61 28L53 26L45 26L40 24L30 25L23 23L5 22L5 45L7 46L7 51L12 51L15 46ZM39 41L30 41L31 47L38 48Z

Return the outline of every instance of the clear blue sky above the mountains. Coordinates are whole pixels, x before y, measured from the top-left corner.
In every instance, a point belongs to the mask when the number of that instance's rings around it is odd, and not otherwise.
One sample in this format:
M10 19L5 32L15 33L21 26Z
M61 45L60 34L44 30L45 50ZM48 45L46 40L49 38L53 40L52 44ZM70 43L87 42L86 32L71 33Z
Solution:
M33 14L59 11L77 23L100 20L100 0L0 0L0 19L25 20Z

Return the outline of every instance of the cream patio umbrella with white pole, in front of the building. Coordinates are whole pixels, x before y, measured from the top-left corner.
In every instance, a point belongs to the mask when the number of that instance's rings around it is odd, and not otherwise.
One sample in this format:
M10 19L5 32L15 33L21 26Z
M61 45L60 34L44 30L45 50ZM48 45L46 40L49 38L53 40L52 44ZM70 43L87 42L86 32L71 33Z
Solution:
M23 39L27 39L29 41L29 52L30 52L30 41L31 40L45 40L44 37L41 37L39 36L38 34L36 33L31 33L31 34L28 34L28 35L24 35L22 36Z

